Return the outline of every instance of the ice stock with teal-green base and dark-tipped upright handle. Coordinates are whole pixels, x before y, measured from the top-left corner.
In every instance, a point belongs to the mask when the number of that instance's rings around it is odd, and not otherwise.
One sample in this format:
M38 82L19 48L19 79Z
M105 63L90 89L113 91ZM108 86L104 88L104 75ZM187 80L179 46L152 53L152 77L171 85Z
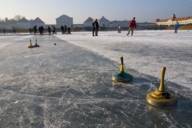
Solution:
M121 57L120 72L112 76L113 83L129 83L133 81L133 76L125 72L123 57Z

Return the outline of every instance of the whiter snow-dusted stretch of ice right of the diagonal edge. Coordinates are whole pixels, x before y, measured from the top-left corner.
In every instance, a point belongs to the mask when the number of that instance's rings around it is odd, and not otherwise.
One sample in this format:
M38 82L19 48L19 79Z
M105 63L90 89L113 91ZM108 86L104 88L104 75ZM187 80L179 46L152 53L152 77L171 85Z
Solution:
M166 80L192 89L192 31L74 32L57 35L62 40L96 52L119 62L124 56L127 68L159 77L162 66L167 67Z

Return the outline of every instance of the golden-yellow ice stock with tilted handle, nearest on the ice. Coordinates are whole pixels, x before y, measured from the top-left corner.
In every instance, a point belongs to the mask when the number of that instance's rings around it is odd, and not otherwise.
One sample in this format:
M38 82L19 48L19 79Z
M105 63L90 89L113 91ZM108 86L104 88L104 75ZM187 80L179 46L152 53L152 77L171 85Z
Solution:
M177 103L174 93L168 92L165 89L164 85L165 71L166 67L163 67L161 70L161 80L159 88L150 91L146 96L146 101L150 105L161 107L161 106L175 105Z

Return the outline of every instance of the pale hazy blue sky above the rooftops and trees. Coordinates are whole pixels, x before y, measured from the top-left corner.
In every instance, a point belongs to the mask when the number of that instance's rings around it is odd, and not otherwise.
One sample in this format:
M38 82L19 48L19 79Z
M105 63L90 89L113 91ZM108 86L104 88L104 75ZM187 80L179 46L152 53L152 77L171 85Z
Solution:
M110 20L136 17L137 21L155 21L156 18L192 16L192 0L0 0L0 18L17 14L27 18L40 17L46 23L67 14L74 23L82 23L88 16Z

